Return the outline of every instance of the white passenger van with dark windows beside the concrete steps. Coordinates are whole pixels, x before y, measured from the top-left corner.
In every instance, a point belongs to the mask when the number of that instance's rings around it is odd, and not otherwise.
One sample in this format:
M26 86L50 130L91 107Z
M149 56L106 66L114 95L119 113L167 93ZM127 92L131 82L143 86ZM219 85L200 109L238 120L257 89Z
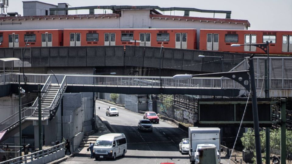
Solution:
M109 133L99 136L94 146L93 153L95 159L112 158L122 155L127 152L127 139L123 133Z

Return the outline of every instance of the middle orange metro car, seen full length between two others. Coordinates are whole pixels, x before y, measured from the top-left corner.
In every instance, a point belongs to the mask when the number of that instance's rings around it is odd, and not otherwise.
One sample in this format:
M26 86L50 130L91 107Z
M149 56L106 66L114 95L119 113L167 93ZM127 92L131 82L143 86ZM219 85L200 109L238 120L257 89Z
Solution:
M135 43L136 42L136 43ZM196 29L64 29L64 46L153 46L196 49Z

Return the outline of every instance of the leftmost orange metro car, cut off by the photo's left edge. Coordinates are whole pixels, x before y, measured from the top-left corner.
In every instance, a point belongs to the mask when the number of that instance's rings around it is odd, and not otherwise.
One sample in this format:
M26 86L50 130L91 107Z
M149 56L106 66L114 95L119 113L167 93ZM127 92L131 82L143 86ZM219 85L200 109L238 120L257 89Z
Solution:
M0 31L0 47L63 46L63 30L7 30Z

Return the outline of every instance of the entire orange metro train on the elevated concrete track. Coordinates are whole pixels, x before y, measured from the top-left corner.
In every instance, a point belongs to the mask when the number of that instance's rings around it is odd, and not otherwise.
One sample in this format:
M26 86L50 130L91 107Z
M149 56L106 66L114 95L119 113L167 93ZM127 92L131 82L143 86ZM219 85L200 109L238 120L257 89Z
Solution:
M270 54L292 54L292 31L200 29L47 29L0 30L1 47L28 46L153 46L237 53L264 53L255 46L231 47L269 41Z

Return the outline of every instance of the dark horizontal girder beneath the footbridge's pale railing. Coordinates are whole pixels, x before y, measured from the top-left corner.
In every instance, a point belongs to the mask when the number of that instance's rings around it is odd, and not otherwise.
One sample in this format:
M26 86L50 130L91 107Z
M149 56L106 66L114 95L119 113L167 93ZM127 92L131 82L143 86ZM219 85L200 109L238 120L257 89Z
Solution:
M0 86L5 88L5 92L0 93L0 97L8 96L10 93L18 93L18 84L7 84ZM37 90L37 85L21 85L26 92ZM4 91L4 90L3 90ZM190 94L206 96L232 96L241 95L240 89L210 89L210 88L149 88L149 87L93 87L93 86L67 86L65 92L101 92L118 94Z

